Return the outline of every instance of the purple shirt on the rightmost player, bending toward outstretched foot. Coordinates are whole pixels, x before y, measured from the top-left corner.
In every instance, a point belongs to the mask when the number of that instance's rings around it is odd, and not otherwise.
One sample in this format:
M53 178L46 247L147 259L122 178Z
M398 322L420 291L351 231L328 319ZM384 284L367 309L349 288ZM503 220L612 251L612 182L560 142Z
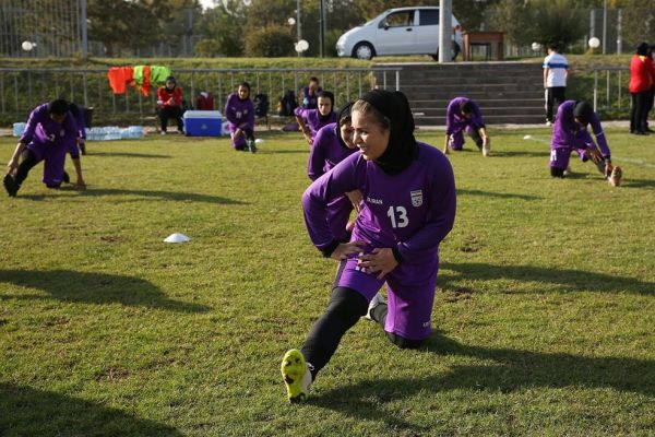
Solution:
M559 106L555 126L552 127L550 149L577 149L581 153L581 157L586 161L587 156L584 150L586 149L587 144L595 145L595 143L592 139L592 135L587 131L587 128L575 122L573 117L574 106L575 101L567 101ZM600 147L603 157L610 157L611 153L609 151L609 146L607 145L607 140L605 139L605 132L603 131L603 127L600 126L600 121L598 120L596 113L594 113L592 116L590 125L592 126L594 135L596 137L598 147Z

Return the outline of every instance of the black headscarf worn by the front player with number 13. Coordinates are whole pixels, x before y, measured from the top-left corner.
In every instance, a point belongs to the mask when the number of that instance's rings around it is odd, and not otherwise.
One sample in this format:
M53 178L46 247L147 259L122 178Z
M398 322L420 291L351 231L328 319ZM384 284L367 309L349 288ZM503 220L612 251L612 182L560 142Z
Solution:
M391 121L389 145L376 160L388 175L397 175L409 165L418 154L418 144L414 138L414 117L407 97L400 91L373 90L361 96Z

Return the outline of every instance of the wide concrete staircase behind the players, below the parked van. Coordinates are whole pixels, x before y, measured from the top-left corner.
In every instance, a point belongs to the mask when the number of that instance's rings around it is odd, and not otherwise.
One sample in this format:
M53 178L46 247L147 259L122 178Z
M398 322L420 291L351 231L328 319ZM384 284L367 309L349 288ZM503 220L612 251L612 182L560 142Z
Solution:
M448 103L473 98L488 125L544 123L544 79L535 62L394 63L402 68L401 91L407 95L417 126L445 126ZM377 78L382 83L381 74ZM395 84L390 81L388 87Z

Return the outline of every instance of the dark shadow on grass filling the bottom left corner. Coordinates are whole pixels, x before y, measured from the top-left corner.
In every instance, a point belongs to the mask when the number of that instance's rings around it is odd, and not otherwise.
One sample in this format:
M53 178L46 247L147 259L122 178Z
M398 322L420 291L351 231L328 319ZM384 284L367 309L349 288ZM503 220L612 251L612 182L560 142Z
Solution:
M69 395L0 383L0 434L15 436L182 436L176 428Z

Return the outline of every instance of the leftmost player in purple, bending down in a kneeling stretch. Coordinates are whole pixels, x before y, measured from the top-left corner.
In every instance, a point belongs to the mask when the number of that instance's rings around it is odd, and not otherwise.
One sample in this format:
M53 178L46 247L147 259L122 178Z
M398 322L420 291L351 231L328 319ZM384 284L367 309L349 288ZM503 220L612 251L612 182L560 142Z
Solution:
M57 99L37 106L29 114L25 131L7 165L9 172L2 180L9 196L16 196L32 167L41 161L43 181L48 188L59 188L62 182L68 182L69 175L63 169L67 152L71 154L78 174L75 187L86 187L80 164L78 123L69 109L67 101Z

